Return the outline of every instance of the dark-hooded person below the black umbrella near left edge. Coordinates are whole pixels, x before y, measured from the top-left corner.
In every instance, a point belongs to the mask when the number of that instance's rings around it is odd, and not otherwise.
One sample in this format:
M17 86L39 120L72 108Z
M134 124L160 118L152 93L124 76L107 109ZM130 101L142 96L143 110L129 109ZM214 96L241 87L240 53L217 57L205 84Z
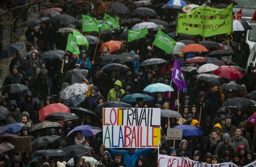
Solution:
M8 111L11 112L11 115L9 117L12 117L14 119L12 123L14 122L21 122L21 116L20 116L20 109L17 108L17 103L15 100L11 100L7 107ZM7 119L8 123L9 118ZM8 124L10 124L9 122Z

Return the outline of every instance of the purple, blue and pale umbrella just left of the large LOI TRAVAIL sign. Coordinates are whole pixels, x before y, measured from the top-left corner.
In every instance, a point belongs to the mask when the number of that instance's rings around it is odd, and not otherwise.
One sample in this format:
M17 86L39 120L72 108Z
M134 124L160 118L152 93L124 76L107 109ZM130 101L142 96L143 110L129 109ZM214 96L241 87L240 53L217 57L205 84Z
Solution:
M67 134L67 136L76 131L81 131L84 136L93 136L99 132L102 132L102 129L100 129L99 127L91 127L90 125L83 125L75 127Z

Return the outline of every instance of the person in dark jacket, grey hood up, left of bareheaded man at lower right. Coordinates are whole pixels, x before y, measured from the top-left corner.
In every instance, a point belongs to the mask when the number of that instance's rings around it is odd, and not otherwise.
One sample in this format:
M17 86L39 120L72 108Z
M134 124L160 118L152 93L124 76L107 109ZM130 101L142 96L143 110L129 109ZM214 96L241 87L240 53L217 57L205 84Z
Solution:
M218 155L220 159L223 159L225 151L229 151L230 155L236 152L236 146L230 142L230 135L228 133L225 133L223 135L223 141L217 144L215 154Z

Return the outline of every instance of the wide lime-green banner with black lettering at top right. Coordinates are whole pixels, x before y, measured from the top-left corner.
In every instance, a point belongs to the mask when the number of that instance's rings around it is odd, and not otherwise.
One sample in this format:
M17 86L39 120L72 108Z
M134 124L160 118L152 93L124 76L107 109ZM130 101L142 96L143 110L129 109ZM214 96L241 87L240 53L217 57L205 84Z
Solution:
M210 37L233 32L233 3L226 9L203 6L188 14L178 14L176 35L202 35Z

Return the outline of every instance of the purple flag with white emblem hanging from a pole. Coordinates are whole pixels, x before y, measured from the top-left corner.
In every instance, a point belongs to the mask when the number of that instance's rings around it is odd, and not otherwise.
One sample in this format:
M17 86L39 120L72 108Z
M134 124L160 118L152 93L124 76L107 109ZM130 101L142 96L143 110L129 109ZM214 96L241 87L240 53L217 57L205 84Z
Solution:
M177 86L177 91L180 92L184 87L186 87L186 82L184 80L183 74L181 72L179 63L177 58L175 57L175 61L172 69L172 82Z

